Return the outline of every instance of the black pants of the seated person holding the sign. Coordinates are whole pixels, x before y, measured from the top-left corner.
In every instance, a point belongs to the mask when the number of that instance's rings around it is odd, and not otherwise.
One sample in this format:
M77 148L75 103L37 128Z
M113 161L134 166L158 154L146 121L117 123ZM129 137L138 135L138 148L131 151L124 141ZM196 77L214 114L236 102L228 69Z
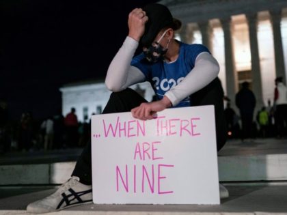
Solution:
M198 91L192 98L193 105L215 105L215 118L217 130L217 149L221 149L226 143L226 125L223 115L223 91L219 79L215 79L210 85L204 87L202 91ZM131 111L131 109L139 106L142 102L147 102L139 96L133 89L125 89L118 93L112 93L107 106L102 114L105 113L120 113ZM83 149L79 157L76 167L72 175L78 176L83 184L92 184L92 152L91 142Z

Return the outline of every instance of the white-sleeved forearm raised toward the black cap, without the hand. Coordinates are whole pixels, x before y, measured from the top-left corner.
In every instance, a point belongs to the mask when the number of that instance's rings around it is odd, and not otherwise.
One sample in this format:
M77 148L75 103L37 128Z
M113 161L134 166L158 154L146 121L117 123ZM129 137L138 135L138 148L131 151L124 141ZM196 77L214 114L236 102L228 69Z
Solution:
M120 91L126 87L128 72L130 71L131 61L137 46L137 41L133 40L133 38L126 37L124 44L115 57L113 57L105 79L105 84L109 90Z

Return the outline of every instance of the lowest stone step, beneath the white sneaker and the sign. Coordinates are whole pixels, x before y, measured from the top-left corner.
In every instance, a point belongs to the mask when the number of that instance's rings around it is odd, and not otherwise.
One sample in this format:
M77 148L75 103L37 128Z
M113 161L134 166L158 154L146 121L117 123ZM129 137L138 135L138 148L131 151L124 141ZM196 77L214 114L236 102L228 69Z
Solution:
M230 197L220 205L98 205L87 204L70 207L57 215L187 215L187 214L287 214L287 183L225 183ZM27 187L25 187L27 189ZM6 187L0 187L0 192ZM18 187L19 190L22 187ZM50 195L56 188L29 192L0 199L0 215L28 214L27 205ZM33 191L33 190L32 190ZM14 191L15 192L15 191Z

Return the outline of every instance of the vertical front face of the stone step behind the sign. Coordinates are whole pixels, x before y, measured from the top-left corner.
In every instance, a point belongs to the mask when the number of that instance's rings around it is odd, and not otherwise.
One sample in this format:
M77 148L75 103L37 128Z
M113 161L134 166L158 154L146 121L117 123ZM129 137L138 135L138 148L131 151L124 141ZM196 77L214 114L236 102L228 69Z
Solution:
M287 154L219 156L220 182L287 181ZM62 184L75 162L0 166L0 185Z

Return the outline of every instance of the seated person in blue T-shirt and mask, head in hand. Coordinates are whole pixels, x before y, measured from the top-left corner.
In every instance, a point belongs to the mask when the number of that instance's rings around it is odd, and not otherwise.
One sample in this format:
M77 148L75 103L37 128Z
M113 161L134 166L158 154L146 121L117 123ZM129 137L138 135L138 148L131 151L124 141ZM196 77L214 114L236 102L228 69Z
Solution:
M158 3L135 8L128 15L128 36L115 55L105 83L113 91L103 113L131 111L137 119L152 119L169 107L215 105L217 149L226 142L223 90L217 78L219 64L201 44L184 44L174 39L180 21ZM139 44L143 53L134 56ZM115 78L117 77L117 78ZM150 81L158 100L147 102L128 86ZM92 201L91 144L87 145L68 180L55 194L27 206L28 212L52 212ZM70 191L69 191L70 190ZM228 190L221 186L221 197Z

